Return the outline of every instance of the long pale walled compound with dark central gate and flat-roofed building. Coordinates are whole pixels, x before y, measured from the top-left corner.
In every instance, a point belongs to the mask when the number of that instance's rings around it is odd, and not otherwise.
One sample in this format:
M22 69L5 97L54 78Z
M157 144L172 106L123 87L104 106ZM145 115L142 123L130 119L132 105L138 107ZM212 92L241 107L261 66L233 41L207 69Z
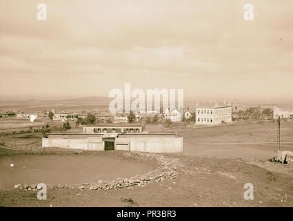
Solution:
M93 126L83 133L49 133L42 146L77 148L89 151L141 151L149 153L178 153L183 151L183 137L176 133L143 132L143 125Z

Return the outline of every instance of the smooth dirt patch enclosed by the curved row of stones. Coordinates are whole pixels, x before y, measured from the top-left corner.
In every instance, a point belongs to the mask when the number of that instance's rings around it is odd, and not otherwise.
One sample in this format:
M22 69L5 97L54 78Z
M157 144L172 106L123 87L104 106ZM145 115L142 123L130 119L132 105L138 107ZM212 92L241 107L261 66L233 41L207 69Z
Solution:
M129 160L119 152L10 155L0 157L0 190L13 189L15 184L81 185L83 182L110 181L145 174L155 168L150 162Z

